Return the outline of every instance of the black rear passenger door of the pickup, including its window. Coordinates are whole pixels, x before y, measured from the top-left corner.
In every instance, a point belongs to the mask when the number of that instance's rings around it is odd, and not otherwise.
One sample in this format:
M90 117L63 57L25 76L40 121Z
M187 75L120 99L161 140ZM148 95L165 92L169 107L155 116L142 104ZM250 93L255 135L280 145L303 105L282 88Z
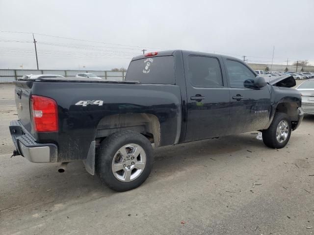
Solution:
M223 136L230 117L230 95L220 57L184 56L187 92L185 141Z

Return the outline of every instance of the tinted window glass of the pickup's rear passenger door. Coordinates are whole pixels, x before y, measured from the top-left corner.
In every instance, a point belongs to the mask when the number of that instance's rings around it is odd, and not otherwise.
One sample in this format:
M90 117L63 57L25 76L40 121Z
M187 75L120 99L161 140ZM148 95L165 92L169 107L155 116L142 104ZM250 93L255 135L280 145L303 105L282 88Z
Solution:
M196 87L222 87L219 61L213 57L189 56L188 77Z

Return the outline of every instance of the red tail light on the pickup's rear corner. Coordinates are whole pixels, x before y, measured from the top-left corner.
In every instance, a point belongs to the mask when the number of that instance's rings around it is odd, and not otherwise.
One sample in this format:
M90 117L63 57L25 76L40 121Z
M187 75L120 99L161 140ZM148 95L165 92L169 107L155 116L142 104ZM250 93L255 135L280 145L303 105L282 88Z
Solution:
M57 103L53 99L32 95L31 109L36 132L58 131L58 109Z

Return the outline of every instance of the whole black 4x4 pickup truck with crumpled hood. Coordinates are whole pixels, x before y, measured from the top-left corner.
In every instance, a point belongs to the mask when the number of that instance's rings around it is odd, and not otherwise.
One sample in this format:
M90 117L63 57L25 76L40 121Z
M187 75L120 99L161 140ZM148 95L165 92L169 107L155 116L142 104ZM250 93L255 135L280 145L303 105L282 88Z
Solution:
M258 130L265 145L282 148L302 121L301 94L291 76L270 79L236 58L183 50L134 57L125 81L22 79L13 154L62 163L60 171L82 160L125 191L149 176L153 146Z

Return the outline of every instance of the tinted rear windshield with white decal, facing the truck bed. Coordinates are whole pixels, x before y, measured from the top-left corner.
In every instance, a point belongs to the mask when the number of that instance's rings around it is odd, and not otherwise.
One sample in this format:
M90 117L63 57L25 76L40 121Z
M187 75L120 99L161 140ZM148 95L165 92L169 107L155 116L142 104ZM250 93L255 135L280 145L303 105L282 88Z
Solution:
M152 84L175 84L173 56L147 57L131 61L125 80Z

